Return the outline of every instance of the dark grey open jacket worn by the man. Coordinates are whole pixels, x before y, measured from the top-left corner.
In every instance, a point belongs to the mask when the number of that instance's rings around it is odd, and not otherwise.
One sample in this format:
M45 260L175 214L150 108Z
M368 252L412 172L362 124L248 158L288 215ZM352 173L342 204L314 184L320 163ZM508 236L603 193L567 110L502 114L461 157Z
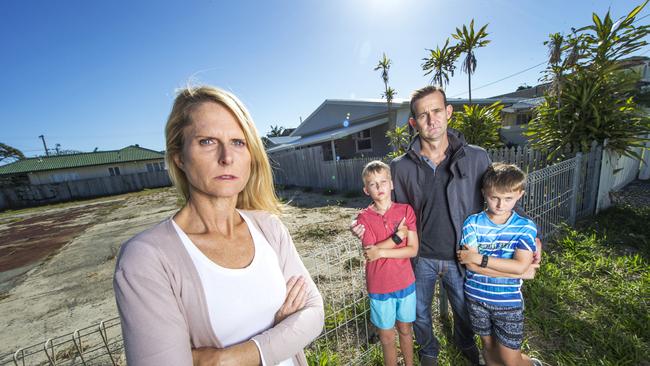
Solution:
M449 213L460 239L463 222L467 216L483 210L481 179L490 165L487 152L465 142L463 135L447 129L449 138L449 170L451 178L447 185ZM395 158L391 164L393 199L395 202L413 206L417 218L418 236L422 234L422 203L427 187L424 184L427 169L431 169L420 155L420 138L416 137L406 154ZM458 246L458 243L456 244Z

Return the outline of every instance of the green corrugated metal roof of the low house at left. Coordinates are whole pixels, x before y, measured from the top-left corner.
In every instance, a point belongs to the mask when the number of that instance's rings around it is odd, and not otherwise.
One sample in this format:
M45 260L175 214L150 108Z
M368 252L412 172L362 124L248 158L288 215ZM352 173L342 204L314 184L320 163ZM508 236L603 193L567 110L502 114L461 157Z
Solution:
M0 175L126 163L129 161L139 160L154 160L163 159L164 157L165 154L158 151L145 149L139 146L127 146L120 150L22 159L11 164L0 166Z

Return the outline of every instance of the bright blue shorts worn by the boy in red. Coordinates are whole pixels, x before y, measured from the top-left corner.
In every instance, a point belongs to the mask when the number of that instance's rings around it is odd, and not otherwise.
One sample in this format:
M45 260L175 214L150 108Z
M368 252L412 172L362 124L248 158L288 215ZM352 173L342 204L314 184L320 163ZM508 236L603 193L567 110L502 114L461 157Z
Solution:
M405 289L387 294L368 294L370 321L379 329L392 329L395 320L415 321L415 282Z

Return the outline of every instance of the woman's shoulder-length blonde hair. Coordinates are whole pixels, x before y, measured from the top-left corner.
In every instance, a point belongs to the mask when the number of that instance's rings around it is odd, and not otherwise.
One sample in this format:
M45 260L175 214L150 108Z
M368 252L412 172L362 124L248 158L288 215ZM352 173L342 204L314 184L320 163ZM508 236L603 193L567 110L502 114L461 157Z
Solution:
M165 160L174 187L186 201L189 200L189 182L185 173L174 162L174 157L183 149L183 131L192 123L192 111L206 102L218 103L232 112L244 132L246 146L251 154L250 177L244 190L237 196L237 208L279 213L282 206L275 194L271 164L253 119L236 96L211 86L187 87L180 90L167 119Z

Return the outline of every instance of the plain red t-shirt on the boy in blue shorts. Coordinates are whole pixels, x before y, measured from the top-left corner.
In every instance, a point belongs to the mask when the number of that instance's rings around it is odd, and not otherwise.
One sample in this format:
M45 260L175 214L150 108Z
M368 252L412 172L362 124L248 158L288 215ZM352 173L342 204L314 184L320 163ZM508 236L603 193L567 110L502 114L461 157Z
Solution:
M399 222L406 217L406 227L409 231L416 231L415 213L411 206L404 203L396 203L390 206L388 211L380 215L373 210L372 205L361 210L357 216L357 222L365 226L361 243L364 247L375 245L393 235ZM396 248L405 247L408 239L404 238ZM415 282L411 261L408 258L380 258L366 263L366 285L371 294L387 294L389 292L402 290Z

